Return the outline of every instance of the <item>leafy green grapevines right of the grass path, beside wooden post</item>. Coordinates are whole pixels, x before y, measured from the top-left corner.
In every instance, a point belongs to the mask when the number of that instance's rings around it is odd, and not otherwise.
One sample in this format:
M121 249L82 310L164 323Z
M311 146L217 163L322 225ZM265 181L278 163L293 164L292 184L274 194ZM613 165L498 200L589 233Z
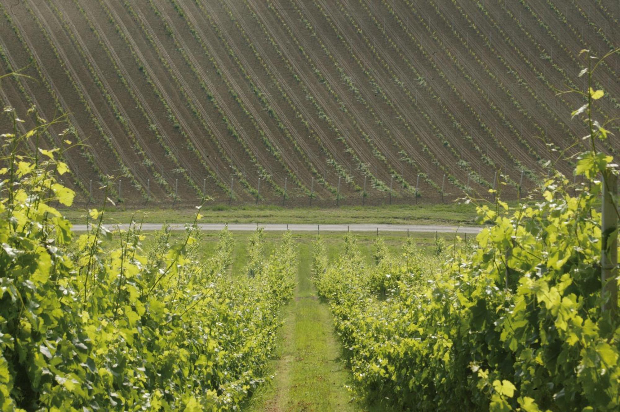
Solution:
M402 257L366 267L350 239L337 262L315 259L361 395L402 410L620 409L620 326L601 311L617 302L601 296L598 212L599 176L617 171L596 152L606 139L591 120L597 93L582 93L591 150L577 161L579 190L556 173L536 202L479 205L490 226L449 259L410 259L408 242Z

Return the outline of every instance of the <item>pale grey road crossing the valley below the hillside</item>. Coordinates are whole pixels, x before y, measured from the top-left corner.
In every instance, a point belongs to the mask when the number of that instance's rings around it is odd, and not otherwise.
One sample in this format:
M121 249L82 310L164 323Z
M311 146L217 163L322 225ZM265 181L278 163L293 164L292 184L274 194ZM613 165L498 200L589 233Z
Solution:
M121 229L126 229L128 225L104 225L109 230L113 230L120 226ZM144 223L142 230L159 230L162 223ZM183 230L184 225L171 224L172 230ZM198 226L201 230L222 230L224 223L199 223ZM441 233L468 233L476 234L482 228L476 228L472 226L441 226L441 225L388 225L388 224L373 224L373 223L355 223L352 225L312 225L309 223L229 223L228 229L235 231L253 231L256 228L264 228L267 231L285 231L286 228L294 232L313 232L317 230L328 232L342 232L342 231L354 231L354 232L374 232L379 230L384 231L396 231L402 232L409 230L410 232L427 233L427 232L441 232ZM74 225L75 231L86 231L86 225Z

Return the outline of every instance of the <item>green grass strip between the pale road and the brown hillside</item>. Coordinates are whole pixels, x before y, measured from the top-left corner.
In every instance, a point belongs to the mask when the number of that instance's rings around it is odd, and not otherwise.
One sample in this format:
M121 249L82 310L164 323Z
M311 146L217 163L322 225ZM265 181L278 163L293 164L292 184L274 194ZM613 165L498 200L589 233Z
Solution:
M86 210L61 210L73 223L84 223ZM126 223L133 215L145 223L186 223L195 216L195 208L106 210L104 223ZM340 208L282 208L275 206L206 206L201 223L408 223L475 225L476 208L471 204L343 206Z

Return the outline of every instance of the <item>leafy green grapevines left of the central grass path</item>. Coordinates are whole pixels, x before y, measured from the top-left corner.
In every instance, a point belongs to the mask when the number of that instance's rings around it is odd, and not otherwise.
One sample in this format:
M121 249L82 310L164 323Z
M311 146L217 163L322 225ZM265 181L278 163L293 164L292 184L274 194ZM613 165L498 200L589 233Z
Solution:
M78 236L51 207L73 200L55 179L66 165L55 150L37 163L18 154L28 138L2 135L2 411L237 410L265 380L292 295L290 233L254 278L224 276L226 229L210 256L195 224L180 242L164 228L143 250L139 224L111 232L92 209Z

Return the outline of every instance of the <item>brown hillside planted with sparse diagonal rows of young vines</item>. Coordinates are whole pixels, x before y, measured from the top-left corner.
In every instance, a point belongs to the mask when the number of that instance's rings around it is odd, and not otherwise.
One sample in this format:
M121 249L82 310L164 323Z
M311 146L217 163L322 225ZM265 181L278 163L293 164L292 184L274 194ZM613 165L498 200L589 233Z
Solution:
M16 4L15 4L16 3ZM570 176L616 0L0 0L0 100L86 203L514 199ZM596 78L618 113L620 54ZM24 131L36 116L24 118ZM618 136L618 127L612 130ZM618 139L604 142L614 153ZM30 142L33 148L36 142Z

